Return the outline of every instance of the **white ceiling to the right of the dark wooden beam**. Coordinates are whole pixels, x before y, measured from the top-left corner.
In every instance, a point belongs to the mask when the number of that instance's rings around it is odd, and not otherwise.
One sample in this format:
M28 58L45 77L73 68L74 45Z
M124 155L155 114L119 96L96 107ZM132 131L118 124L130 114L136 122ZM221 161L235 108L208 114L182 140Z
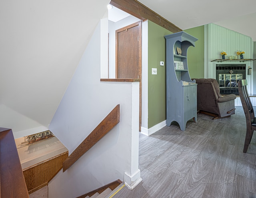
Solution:
M182 30L215 23L256 41L256 0L138 0Z

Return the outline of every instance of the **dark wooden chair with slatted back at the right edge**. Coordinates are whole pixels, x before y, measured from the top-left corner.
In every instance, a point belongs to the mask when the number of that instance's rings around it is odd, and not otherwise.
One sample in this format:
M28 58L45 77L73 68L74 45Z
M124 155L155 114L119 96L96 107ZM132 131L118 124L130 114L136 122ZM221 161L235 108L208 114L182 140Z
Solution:
M254 117L254 110L252 102L247 92L247 80L240 80L238 82L238 92L244 109L246 118L246 136L244 141L244 153L247 152L248 146L252 140L253 131L256 130L256 118Z

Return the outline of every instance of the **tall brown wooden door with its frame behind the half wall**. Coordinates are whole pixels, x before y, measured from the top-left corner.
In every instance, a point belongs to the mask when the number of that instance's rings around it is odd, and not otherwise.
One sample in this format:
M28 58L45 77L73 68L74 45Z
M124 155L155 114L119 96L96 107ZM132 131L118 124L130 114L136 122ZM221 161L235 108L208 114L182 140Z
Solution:
M116 30L116 78L141 79L141 21ZM139 130L141 128L141 89Z

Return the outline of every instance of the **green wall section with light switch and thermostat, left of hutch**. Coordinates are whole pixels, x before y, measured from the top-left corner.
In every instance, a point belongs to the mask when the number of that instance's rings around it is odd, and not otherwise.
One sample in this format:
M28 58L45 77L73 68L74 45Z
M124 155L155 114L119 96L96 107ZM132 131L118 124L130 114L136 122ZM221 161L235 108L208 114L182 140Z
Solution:
M165 35L169 30L148 21L148 128L166 120ZM160 66L164 61L164 66ZM157 68L157 75L152 75Z

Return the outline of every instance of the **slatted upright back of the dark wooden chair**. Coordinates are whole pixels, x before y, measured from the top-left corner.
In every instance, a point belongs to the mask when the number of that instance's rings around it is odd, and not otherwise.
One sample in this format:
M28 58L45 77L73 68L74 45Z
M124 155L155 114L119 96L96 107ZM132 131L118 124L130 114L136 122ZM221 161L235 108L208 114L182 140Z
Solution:
M242 102L242 106L244 109L244 114L246 117L246 123L250 123L249 126L251 125L252 118L254 118L254 110L252 107L252 102L250 100L248 91L247 91L247 80L240 80L238 82L238 92L239 96Z

